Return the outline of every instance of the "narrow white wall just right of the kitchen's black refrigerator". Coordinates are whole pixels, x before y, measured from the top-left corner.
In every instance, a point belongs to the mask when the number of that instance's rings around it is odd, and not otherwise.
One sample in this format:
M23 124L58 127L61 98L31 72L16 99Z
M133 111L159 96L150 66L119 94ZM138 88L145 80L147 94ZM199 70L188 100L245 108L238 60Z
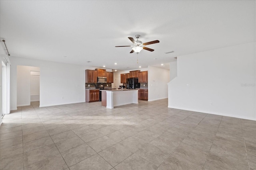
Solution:
M148 66L148 101L168 98L170 70Z

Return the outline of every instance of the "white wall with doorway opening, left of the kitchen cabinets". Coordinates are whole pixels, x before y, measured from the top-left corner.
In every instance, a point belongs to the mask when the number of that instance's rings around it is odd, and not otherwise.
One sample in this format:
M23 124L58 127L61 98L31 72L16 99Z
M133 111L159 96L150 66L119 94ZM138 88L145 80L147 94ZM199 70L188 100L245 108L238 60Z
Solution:
M85 70L96 68L22 57L10 57L10 61L11 110L17 109L18 65L40 67L40 107L85 102Z

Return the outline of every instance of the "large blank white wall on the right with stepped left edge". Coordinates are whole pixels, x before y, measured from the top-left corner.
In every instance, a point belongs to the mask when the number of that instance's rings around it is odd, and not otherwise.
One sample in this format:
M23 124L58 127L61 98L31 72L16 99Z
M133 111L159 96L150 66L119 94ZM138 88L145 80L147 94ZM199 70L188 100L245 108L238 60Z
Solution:
M168 107L256 120L255 56L255 42L179 56Z

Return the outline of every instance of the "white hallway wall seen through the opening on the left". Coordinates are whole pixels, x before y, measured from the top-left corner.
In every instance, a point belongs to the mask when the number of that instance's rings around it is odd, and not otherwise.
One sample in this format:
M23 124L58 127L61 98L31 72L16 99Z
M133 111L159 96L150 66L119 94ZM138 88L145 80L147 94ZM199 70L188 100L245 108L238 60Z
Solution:
M17 106L30 106L30 71L40 71L39 67L17 66Z

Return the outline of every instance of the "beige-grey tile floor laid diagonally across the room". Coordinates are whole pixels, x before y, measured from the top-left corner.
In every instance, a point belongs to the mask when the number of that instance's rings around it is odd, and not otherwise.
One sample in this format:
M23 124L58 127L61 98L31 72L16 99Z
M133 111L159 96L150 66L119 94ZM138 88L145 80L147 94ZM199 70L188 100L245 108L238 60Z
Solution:
M256 121L167 106L18 107L0 127L0 169L256 169Z

